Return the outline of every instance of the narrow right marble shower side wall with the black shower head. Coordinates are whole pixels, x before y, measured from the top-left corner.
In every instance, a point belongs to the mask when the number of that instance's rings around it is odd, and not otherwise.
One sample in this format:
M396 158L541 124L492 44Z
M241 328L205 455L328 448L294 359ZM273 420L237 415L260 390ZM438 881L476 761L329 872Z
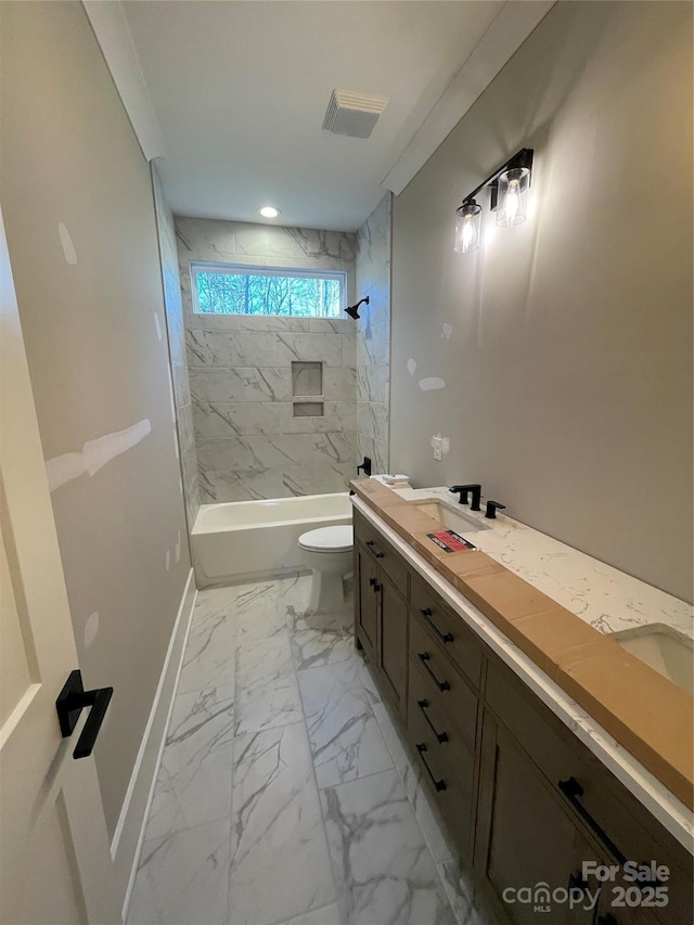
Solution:
M388 472L390 408L390 214L387 193L357 233L357 445L373 472Z

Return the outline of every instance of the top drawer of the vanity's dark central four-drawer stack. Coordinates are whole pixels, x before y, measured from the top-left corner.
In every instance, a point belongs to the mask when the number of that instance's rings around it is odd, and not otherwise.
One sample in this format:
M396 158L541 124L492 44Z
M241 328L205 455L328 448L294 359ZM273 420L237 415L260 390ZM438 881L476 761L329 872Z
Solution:
M411 578L410 607L416 614L416 619L426 626L432 639L436 640L473 685L479 688L481 647L462 617L415 575Z

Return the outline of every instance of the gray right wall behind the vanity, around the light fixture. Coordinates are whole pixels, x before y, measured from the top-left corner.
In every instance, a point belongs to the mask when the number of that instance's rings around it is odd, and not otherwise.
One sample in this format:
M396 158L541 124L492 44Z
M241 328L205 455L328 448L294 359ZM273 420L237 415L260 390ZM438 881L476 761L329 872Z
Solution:
M481 481L687 599L691 36L689 3L556 4L395 201L390 442L417 485ZM524 145L528 221L485 203L481 248L453 253L463 194Z

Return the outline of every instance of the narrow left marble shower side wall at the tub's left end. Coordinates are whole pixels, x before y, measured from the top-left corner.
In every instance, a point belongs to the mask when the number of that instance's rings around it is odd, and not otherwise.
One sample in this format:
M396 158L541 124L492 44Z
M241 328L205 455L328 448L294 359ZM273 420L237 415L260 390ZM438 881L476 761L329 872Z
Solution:
M189 530L192 529L200 509L197 481L197 453L193 433L193 408L191 389L185 363L185 329L183 327L183 306L178 271L176 247L176 227L174 215L168 206L162 181L156 167L152 165L152 184L156 208L157 235L162 259L164 282L164 305L166 309L166 331L168 332L169 356L171 359L171 382L174 387L174 407L178 428L178 447L183 480L183 498ZM164 332L157 331L157 334Z

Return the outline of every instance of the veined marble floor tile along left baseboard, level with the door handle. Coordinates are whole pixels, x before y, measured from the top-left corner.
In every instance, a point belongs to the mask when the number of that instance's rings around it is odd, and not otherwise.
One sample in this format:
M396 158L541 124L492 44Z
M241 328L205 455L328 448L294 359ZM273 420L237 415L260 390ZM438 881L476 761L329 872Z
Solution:
M233 731L233 688L210 688L176 697L150 809L147 839L229 818Z

